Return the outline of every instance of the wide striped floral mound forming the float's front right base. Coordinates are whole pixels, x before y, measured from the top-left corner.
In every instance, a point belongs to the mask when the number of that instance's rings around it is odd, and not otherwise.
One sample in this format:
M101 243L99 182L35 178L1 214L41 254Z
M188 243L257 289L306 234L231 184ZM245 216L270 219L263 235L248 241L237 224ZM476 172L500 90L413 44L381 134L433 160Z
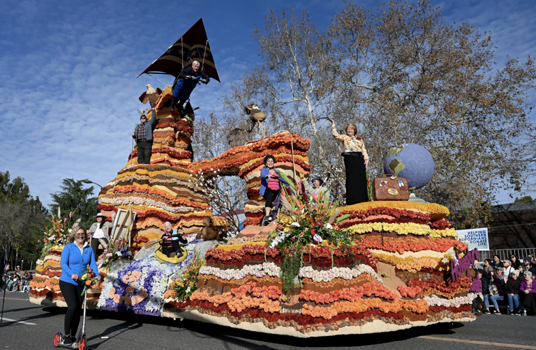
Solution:
M207 252L189 298L168 289L163 316L296 337L472 321L482 289L470 273L477 252L454 239L447 215L445 207L410 202L341 208L334 227L354 243L307 245L288 295L281 249L269 248L265 234L246 242L238 235Z

